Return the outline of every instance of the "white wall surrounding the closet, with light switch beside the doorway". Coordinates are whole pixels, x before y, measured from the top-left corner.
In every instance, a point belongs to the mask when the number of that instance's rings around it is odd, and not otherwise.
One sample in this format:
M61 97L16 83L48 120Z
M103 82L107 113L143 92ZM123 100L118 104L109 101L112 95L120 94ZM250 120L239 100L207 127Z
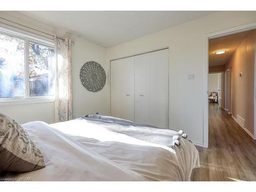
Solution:
M184 130L189 139L203 144L204 35L256 22L256 12L217 12L192 22L125 42L106 50L108 102L111 59L169 47L169 127ZM187 80L194 73L195 80ZM109 113L110 113L110 103Z

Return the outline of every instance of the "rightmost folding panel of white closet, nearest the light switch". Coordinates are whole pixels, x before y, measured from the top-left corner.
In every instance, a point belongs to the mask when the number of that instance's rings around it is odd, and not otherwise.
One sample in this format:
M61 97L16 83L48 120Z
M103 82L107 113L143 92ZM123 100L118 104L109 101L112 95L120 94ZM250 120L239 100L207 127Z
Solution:
M168 49L150 53L150 123L168 127L169 119L169 64Z

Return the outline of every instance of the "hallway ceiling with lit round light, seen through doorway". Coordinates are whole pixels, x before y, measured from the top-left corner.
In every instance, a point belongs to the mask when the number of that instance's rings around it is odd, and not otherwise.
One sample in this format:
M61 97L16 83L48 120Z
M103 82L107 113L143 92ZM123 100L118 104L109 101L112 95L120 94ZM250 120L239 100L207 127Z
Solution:
M245 31L241 33L235 33L232 35L210 39L209 66L225 65L249 32L250 31ZM215 54L215 51L221 49L226 49L226 53Z

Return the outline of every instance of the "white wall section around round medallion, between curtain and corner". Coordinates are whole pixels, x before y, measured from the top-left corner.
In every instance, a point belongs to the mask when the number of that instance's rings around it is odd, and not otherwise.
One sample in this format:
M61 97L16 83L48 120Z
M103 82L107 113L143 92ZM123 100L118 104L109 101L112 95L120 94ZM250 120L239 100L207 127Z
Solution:
M95 112L108 114L106 86L101 91L93 93L82 86L79 78L80 69L87 61L96 61L106 69L105 48L81 37L72 36L71 39L75 41L72 48L73 114L76 117Z

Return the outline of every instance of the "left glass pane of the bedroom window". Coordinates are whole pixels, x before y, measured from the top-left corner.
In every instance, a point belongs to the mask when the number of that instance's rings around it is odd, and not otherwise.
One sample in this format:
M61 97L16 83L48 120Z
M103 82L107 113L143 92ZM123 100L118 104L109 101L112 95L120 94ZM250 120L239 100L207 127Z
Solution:
M0 98L25 97L25 40L0 33Z

